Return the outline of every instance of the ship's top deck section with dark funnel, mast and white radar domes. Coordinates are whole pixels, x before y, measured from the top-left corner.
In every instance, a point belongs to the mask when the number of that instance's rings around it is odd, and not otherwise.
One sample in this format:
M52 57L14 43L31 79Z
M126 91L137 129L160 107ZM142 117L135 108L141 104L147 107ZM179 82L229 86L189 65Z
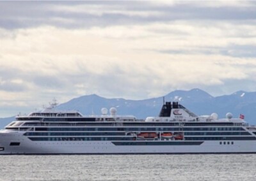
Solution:
M54 105L56 105L54 103ZM109 110L102 108L102 115L88 115L84 116L82 113L72 111L60 111L56 110L55 106L45 108L40 112L32 112L29 115L18 115L17 121L33 121L33 122L141 122L141 124L161 123L167 122L173 124L186 124L186 125L216 125L216 124L234 124L234 125L246 125L247 123L240 118L233 119L231 113L227 113L227 118L218 119L216 113L212 115L198 116L193 112L190 112L187 108L179 103L166 102L161 108L158 117L147 117L145 120L138 120L132 115L116 115L116 108ZM145 122L145 123L143 123ZM157 124L155 124L157 125ZM172 125L172 124L170 124Z

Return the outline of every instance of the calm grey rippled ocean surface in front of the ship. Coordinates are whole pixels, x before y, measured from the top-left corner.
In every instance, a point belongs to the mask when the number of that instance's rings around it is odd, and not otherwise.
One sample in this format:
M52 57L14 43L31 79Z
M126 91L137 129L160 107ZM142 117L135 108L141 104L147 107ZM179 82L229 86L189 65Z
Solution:
M0 156L0 180L256 180L256 154Z

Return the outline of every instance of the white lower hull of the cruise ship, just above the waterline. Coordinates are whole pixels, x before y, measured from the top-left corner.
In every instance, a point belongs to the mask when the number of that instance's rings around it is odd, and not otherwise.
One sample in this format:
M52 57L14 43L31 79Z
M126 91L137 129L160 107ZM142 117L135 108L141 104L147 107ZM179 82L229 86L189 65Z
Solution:
M233 145L220 145L220 141L201 142L198 145L115 145L113 141L31 141L22 134L1 134L0 154L239 154L256 153L255 140L233 141ZM19 146L10 146L19 141ZM166 140L167 141L167 140ZM166 142L165 141L165 142ZM114 141L118 142L118 141ZM124 142L124 141L122 141ZM145 141L136 141L145 142ZM152 141L149 141L152 142ZM156 142L156 141L155 141ZM159 141L157 141L159 142ZM164 141L160 141L164 142ZM170 142L168 140L168 142ZM227 142L227 141L226 141ZM230 141L231 142L231 141Z

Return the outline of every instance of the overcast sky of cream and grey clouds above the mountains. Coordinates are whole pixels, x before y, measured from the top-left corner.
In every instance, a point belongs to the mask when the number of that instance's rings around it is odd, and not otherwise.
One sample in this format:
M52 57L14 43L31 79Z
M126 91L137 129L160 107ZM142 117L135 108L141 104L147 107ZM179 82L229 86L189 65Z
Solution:
M255 1L0 2L0 117L193 88L256 91Z

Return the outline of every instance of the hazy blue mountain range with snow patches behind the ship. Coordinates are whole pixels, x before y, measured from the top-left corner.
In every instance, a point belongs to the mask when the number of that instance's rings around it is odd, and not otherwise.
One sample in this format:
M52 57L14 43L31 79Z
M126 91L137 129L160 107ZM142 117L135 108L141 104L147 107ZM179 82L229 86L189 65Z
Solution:
M247 122L256 124L256 92L245 91L214 97L200 89L191 89L190 91L173 91L159 98L137 101L123 98L108 99L92 94L71 99L67 103L58 105L56 109L78 110L84 115L99 115L102 108L115 107L119 115L134 115L138 119L145 119L159 114L163 98L165 101L179 101L196 115L211 115L215 112L221 118L230 112L234 117L243 114ZM10 118L0 119L0 128L3 128L6 122L10 122Z

